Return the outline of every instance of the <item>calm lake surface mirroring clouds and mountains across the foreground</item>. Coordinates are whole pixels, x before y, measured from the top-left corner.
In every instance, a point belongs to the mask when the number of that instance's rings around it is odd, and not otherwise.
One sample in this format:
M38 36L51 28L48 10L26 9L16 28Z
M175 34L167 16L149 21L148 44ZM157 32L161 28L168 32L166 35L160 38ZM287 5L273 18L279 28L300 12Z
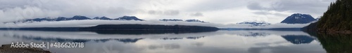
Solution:
M352 50L350 35L303 31L106 32L0 31L0 45L15 42L84 43L84 47L43 48L56 53L351 53Z

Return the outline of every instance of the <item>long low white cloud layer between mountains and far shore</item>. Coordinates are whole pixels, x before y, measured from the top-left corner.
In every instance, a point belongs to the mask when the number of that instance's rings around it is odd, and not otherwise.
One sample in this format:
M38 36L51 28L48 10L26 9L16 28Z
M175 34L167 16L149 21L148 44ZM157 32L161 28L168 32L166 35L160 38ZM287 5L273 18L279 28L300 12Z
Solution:
M183 22L183 21L159 21L159 20L69 20L58 22L18 22L18 23L1 23L0 28L23 28L23 27L94 27L99 24L158 24L158 25L188 25L188 26L204 26L218 28L242 28L242 29L271 29L271 28L302 28L308 24L270 24L266 27L249 27L250 24L216 24L203 22Z

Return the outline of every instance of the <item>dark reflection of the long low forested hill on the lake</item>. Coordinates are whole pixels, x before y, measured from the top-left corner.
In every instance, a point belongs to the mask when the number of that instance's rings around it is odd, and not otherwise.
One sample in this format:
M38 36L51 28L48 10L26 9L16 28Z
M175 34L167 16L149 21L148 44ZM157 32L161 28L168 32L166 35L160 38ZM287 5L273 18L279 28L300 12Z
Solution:
M75 32L81 32L78 30L70 30L70 29L72 29L71 27L60 28L63 30L49 30L49 29L51 29L51 28L23 28L23 29L18 29L18 31L53 31L53 32L75 31ZM11 29L11 30L15 30L15 29ZM98 33L98 34L126 34L126 35L165 34L165 33L176 33L176 34L180 34L180 33L205 33L205 32L214 32L214 31L218 31L218 30L211 30L211 31L210 30L89 30L89 32L94 32L94 33ZM84 31L82 31L82 32L84 32Z

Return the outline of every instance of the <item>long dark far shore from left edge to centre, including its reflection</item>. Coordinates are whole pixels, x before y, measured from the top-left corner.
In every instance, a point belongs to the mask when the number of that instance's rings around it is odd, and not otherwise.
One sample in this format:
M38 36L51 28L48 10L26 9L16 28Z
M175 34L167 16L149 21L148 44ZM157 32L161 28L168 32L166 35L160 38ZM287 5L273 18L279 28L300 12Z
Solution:
M2 30L29 31L92 31L99 34L160 34L160 33L199 33L218 31L216 27L150 24L103 24L96 27L35 27L2 28Z

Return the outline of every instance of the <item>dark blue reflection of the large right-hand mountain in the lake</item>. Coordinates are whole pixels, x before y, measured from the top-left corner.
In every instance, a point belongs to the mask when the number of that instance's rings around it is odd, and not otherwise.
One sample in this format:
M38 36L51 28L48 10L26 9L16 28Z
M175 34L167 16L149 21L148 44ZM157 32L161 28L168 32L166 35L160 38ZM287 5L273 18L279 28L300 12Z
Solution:
M293 44L311 43L314 40L314 38L304 35L287 35L282 36L282 38Z

